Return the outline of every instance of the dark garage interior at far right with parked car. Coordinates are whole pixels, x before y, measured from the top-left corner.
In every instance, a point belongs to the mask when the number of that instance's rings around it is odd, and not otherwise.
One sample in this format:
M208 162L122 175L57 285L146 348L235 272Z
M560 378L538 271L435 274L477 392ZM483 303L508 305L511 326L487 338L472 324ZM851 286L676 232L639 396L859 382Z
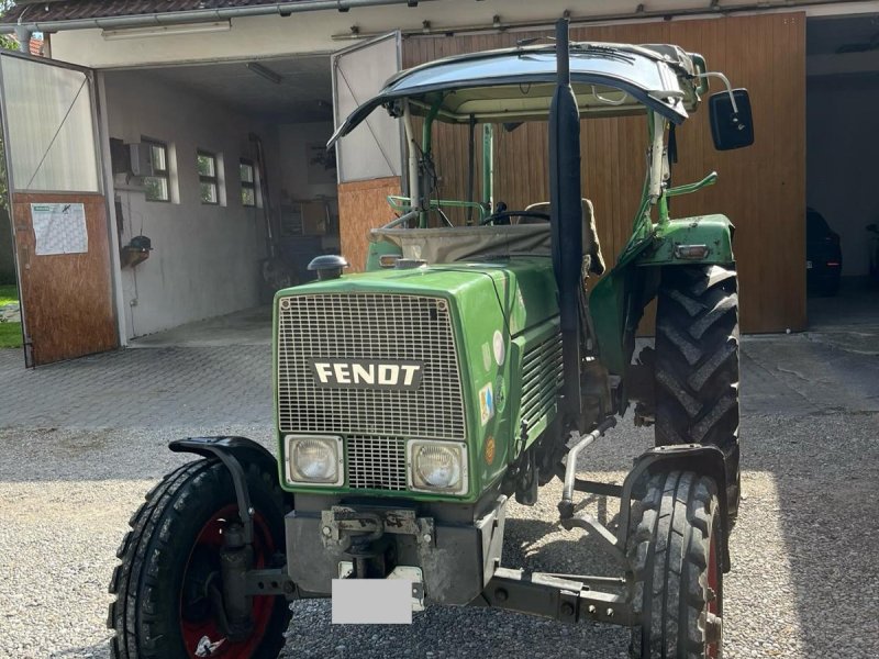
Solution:
M879 14L806 22L806 203L838 235L838 292L816 282L808 298L810 328L879 322ZM806 232L809 233L809 232ZM806 266L836 261L822 252L833 236L809 235ZM828 256L830 254L830 256ZM877 260L872 261L877 264Z

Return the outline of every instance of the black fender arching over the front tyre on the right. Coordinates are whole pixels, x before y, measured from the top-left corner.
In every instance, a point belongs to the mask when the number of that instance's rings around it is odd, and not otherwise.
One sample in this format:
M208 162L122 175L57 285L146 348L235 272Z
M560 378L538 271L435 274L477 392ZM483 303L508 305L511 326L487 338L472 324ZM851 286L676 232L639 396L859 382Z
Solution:
M726 500L726 466L723 451L716 446L702 444L676 444L657 446L637 458L632 471L623 482L620 502L620 525L617 538L623 547L628 546L628 521L632 510L632 493L645 476L674 470L693 471L711 478L717 487L717 501L721 509L721 562L723 571L730 571L730 515Z

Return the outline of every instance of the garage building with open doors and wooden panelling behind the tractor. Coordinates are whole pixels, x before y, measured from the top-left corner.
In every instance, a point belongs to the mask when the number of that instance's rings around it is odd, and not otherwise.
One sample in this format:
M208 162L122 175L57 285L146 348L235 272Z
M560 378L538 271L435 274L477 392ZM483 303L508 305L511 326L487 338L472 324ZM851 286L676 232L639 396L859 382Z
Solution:
M879 135L868 101L879 3L568 9L557 0L20 2L3 26L20 40L42 33L46 55L0 58L27 364L256 308L272 284L304 280L321 253L341 250L361 268L366 232L392 217L386 197L407 189L399 126L377 112L327 153L334 125L401 67L545 36L565 13L574 38L676 43L748 88L755 145L714 152L706 112L697 114L678 135L676 181L716 169L720 182L672 208L735 223L744 331L808 325L806 202L842 235L843 273L866 277L863 226L879 213L866 183ZM646 137L637 119L617 119L585 122L582 138L583 190L615 255ZM466 131L441 127L436 141L443 197L464 199ZM501 133L496 199L545 200L545 126ZM68 204L82 209L86 249L76 236L41 247L37 232L45 238L51 214Z

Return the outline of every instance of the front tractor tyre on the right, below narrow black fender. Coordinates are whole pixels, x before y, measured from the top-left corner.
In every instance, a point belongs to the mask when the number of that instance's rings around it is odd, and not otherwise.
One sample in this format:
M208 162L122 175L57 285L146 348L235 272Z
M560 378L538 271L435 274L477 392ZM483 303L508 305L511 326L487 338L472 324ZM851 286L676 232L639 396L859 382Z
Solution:
M714 481L692 471L653 476L632 506L634 659L723 656L723 569Z

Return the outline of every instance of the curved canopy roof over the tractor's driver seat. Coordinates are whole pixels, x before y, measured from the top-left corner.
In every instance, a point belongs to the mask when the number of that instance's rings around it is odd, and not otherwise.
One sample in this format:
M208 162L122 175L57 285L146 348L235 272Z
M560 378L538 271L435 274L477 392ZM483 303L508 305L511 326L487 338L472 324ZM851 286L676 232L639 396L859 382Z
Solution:
M619 116L646 108L681 123L699 103L701 55L672 45L574 43L570 78L580 114ZM426 115L447 123L508 123L546 119L556 87L555 45L457 55L401 71L355 110L330 139L347 135L376 108Z

